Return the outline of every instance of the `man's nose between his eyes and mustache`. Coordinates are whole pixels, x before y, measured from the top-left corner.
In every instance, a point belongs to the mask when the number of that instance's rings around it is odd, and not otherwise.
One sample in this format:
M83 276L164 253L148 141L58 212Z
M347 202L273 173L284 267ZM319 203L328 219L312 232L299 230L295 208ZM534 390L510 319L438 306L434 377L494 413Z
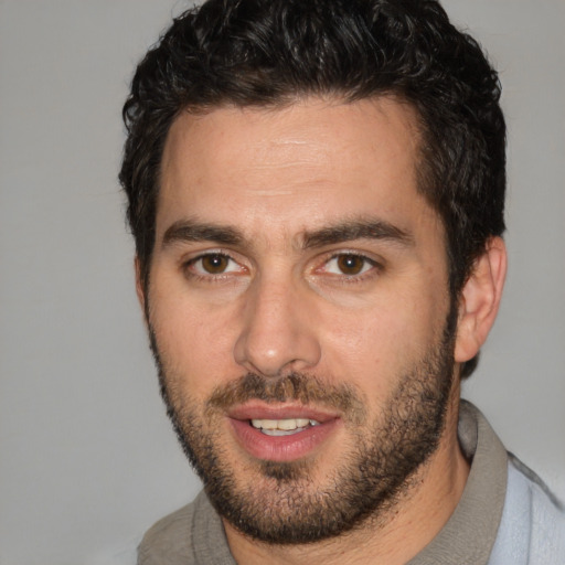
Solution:
M307 290L289 281L255 280L247 292L236 363L264 376L313 367L321 348Z

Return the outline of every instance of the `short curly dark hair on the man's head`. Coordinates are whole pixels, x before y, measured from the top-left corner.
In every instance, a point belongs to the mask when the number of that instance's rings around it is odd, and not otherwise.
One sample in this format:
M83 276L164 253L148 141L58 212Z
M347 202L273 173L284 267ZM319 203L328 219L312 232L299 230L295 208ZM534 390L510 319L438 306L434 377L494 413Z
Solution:
M124 106L119 180L146 287L161 156L179 113L310 95L394 95L417 110L418 190L444 222L457 299L488 239L504 231L505 126L495 71L435 0L209 0L177 18Z

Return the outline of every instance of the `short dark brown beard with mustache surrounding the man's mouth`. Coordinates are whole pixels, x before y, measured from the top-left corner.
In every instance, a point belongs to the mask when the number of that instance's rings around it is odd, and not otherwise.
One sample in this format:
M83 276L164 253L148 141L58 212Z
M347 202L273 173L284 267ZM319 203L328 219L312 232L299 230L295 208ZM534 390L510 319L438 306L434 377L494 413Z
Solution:
M369 520L383 523L409 492L445 427L454 327L451 312L441 339L399 376L379 414L369 413L358 390L302 373L248 373L214 390L207 402L196 402L171 384L181 383L182 375L163 363L151 328L150 338L167 413L216 511L255 540L299 544L360 529ZM239 462L225 449L222 420L226 408L250 399L338 409L349 434L348 449L331 469L320 469L316 458ZM316 481L320 471L324 479Z

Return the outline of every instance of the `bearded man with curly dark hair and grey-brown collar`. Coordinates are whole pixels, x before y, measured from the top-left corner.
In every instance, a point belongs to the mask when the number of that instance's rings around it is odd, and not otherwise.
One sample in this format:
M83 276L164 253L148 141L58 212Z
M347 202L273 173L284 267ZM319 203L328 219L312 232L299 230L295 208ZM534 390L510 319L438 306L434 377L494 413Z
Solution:
M210 0L139 65L121 183L204 483L157 563L564 563L460 381L507 254L500 88L434 1Z

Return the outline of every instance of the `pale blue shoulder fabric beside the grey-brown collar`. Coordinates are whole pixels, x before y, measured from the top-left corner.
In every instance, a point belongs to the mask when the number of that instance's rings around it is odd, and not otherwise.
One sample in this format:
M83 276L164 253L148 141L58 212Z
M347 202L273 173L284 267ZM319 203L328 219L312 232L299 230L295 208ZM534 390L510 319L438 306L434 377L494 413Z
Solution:
M565 509L546 484L509 454L508 489L497 543L489 563L563 565Z

